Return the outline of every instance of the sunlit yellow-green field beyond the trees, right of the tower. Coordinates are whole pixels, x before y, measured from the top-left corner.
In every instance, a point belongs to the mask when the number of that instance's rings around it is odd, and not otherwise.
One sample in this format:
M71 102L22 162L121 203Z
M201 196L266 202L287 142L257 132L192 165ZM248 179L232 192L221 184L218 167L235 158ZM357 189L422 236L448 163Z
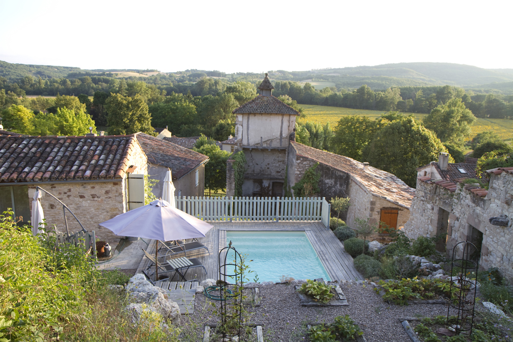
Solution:
M342 116L345 115L363 115L369 118L376 119L380 117L384 111L380 110L365 110L365 109L351 109L342 107L328 107L328 106L315 106L315 105L301 105L305 108L305 119L300 119L299 122L317 122L325 124L329 122L332 128L337 126L337 122ZM419 113L405 113L411 114L416 120L422 120L426 114ZM470 139L475 137L478 133L492 130L506 141L513 139L513 120L507 119L478 119L472 126L472 134Z

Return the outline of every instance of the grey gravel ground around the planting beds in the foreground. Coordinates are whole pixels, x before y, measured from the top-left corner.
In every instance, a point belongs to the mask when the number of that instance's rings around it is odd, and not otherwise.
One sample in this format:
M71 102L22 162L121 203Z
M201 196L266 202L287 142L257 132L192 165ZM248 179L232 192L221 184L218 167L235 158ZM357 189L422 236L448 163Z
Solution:
M367 284L342 284L349 306L346 307L302 307L293 285L261 285L261 307L250 308L251 322L262 322L264 338L272 342L293 342L307 340L305 322L332 322L339 315L348 314L364 332L368 342L410 341L399 317L446 315L447 306L421 304L397 306L388 304ZM250 290L247 290L247 296ZM216 323L212 314L212 300L196 295L194 315L182 316L182 324L193 325L198 330L198 340L205 323ZM219 302L215 302L219 306Z

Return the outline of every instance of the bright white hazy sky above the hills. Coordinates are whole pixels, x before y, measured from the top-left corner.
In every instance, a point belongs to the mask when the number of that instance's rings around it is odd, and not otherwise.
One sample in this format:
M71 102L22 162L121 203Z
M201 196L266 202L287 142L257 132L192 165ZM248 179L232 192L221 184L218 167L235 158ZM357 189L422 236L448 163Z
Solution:
M0 0L0 60L82 69L513 68L512 1Z

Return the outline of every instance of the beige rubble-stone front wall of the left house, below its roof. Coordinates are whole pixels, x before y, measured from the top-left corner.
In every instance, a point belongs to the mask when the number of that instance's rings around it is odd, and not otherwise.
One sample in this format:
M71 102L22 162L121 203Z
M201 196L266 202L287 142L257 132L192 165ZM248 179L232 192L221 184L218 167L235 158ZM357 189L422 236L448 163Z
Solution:
M86 230L94 230L98 239L109 242L114 248L120 237L98 224L124 212L126 206L124 183L120 179L109 182L48 183L41 184L41 187L66 204ZM28 189L30 204L32 204L35 187L36 185L29 186ZM48 226L55 224L58 231L65 233L62 204L42 192L41 205ZM30 207L32 208L32 205ZM81 230L75 218L68 212L66 218L70 232Z

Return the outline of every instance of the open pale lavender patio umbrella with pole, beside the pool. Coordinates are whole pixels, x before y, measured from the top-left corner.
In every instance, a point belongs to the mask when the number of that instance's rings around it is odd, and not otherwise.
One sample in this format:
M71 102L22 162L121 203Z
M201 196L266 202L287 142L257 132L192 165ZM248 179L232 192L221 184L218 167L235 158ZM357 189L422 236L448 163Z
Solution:
M120 236L154 239L155 261L159 240L172 241L204 237L212 225L172 207L164 200L156 200L100 223ZM155 265L156 278L159 268Z

